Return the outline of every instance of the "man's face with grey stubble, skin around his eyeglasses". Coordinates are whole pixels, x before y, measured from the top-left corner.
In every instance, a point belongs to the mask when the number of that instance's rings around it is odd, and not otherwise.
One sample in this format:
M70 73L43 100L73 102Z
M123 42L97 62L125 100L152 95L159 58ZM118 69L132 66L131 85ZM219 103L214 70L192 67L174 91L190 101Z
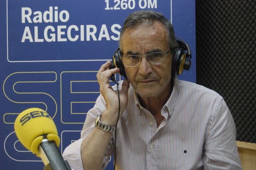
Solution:
M152 25L139 25L128 28L122 37L123 55L148 54L159 50L169 51L166 28L160 22ZM145 57L141 58L140 65L125 67L126 75L136 93L141 97L158 97L170 88L172 55L167 54L165 63L151 65Z

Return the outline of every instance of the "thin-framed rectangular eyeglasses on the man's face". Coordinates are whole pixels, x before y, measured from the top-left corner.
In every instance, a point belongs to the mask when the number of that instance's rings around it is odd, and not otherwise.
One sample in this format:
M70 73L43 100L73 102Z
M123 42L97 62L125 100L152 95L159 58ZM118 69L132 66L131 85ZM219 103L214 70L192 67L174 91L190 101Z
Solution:
M164 63L167 58L167 54L170 53L171 50L165 52L155 52L149 53L144 55L129 55L129 56L122 56L120 59L122 60L124 66L126 67L134 67L140 65L141 57L145 56L146 60L151 65L157 65Z

